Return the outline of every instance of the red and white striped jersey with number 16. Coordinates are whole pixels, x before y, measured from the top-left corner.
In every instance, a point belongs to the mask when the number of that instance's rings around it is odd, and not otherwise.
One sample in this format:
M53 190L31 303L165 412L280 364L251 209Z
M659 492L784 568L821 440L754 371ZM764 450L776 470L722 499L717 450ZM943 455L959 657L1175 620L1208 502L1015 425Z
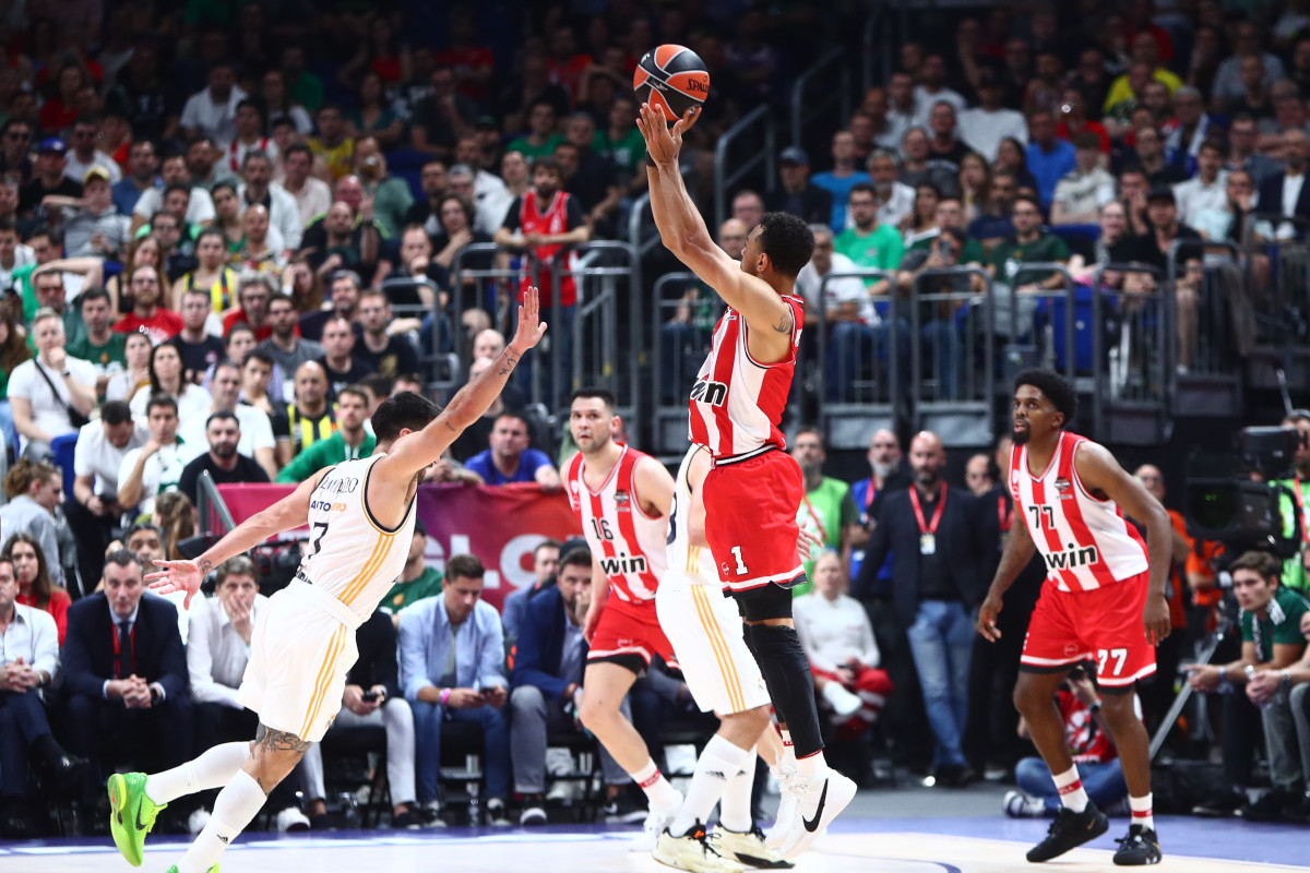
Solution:
M569 463L569 503L582 525L591 554L609 577L614 594L629 603L655 598L655 589L668 565L668 520L642 512L633 488L633 470L648 455L624 446L618 463L600 491L583 479L587 459L582 452Z

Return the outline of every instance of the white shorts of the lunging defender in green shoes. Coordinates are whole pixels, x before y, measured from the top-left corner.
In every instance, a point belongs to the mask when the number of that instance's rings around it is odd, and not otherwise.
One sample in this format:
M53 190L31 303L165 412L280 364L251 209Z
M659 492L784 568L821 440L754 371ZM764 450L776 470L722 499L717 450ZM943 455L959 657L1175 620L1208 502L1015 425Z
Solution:
M359 658L359 623L331 594L291 582L255 620L237 700L272 730L322 739L341 709L346 671Z

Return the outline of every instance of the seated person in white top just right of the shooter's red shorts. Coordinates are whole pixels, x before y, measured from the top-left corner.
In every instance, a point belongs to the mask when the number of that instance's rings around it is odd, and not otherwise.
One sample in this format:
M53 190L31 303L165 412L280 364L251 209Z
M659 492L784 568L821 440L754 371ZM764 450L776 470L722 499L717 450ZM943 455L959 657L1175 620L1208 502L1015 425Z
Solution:
M793 603L796 636L810 660L815 691L832 708L844 739L857 739L887 704L892 681L880 669L874 627L859 601L848 597L842 561L824 550L814 563L814 590Z

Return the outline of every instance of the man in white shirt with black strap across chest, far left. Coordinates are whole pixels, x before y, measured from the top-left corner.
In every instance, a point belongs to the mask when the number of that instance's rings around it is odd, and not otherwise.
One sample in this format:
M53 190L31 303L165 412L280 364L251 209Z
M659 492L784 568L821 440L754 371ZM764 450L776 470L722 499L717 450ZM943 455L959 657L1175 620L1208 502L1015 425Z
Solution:
M31 338L37 356L14 368L8 395L24 453L47 457L55 437L73 433L96 406L96 368L64 348L63 319L37 310Z

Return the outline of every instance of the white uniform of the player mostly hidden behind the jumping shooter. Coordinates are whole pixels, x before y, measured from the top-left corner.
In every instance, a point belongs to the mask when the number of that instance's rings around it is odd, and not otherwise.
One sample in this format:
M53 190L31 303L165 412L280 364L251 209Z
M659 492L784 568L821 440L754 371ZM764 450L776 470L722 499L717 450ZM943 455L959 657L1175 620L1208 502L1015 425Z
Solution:
M668 568L655 592L660 627L702 712L731 715L769 703L760 668L741 637L736 601L724 597L709 548L688 534L692 490L688 474L700 446L688 449L673 482L668 514Z

